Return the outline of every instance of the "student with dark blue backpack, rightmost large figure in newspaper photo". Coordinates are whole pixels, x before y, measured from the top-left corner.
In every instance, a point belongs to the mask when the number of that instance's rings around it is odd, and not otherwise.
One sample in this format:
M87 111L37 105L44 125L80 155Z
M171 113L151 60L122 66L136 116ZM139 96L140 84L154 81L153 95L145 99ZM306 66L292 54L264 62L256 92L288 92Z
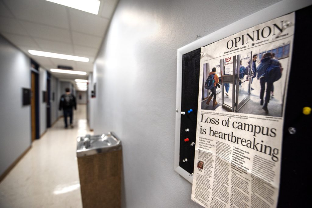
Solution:
M262 56L261 63L257 67L257 79L260 80L260 104L263 105L262 109L269 113L268 103L270 100L271 88L273 83L280 79L282 76L280 62L272 59L271 53L265 53ZM266 97L264 98L264 91ZM264 98L264 100L263 100Z

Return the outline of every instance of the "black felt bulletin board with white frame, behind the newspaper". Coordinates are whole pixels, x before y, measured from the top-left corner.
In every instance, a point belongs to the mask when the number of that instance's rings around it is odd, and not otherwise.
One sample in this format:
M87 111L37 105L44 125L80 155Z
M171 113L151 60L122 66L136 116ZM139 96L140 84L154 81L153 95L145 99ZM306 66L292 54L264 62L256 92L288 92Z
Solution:
M305 76L309 68L308 54L312 48L306 25L312 13L312 6L309 4L311 2L278 2L178 49L174 168L186 180L191 183L193 181L195 145L191 144L195 143L196 137L201 47L295 11L294 48L285 106L278 207L307 205L305 203L310 187L310 172L306 172L306 167L310 164L312 123L311 115L303 114L303 108L312 107L310 76ZM190 109L193 111L189 112ZM290 128L295 128L295 133Z

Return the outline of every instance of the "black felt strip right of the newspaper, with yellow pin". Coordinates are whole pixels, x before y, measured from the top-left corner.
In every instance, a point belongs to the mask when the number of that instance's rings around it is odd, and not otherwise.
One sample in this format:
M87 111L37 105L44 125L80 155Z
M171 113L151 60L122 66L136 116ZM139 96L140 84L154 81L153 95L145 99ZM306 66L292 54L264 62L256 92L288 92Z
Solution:
M311 114L302 109L312 107L309 61L311 44L310 27L312 6L295 12L295 37L289 76L280 174L278 207L310 207L311 185ZM308 26L309 25L309 26ZM295 134L288 132L295 127Z

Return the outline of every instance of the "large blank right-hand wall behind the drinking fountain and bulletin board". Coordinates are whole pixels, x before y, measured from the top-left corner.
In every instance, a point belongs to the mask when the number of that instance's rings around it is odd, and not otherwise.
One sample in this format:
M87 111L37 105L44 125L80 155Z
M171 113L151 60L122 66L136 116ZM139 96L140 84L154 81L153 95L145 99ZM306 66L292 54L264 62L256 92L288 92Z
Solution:
M177 49L278 1L119 2L95 61L90 127L122 140L124 206L200 207L173 169Z

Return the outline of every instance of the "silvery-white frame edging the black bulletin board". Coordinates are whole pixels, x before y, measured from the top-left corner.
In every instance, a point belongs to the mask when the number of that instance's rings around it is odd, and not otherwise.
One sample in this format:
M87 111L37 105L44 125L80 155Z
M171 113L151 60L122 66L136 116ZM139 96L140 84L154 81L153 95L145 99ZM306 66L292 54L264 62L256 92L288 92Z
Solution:
M180 158L180 125L181 125L181 94L182 94L182 56L188 52L194 51L203 46L207 46L215 41L221 40L237 32L246 30L255 25L267 22L277 17L283 16L290 12L294 12L301 8L311 5L311 0L283 0L277 2L265 9L262 9L254 14L251 14L239 21L236 21L226 27L223 27L211 34L204 36L186 46L183 46L177 51L177 94L176 94L176 126L175 126L175 148L174 148L174 170L178 172L190 183L193 183L193 177L190 173L179 166ZM183 109L185 110L185 109Z

